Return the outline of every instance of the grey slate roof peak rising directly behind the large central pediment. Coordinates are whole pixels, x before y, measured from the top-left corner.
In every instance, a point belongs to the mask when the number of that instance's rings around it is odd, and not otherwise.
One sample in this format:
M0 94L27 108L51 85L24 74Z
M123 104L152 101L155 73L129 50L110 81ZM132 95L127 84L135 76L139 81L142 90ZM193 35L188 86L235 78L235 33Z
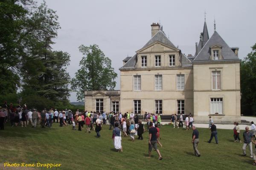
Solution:
M168 46L171 46L174 49L177 49L177 47L175 45L173 45L173 43L166 37L166 35L164 34L164 32L162 30L159 30L146 44L145 46L142 47L142 49L150 46L151 44L153 44L154 42L159 41L161 43L164 43ZM179 49L177 49L179 50Z

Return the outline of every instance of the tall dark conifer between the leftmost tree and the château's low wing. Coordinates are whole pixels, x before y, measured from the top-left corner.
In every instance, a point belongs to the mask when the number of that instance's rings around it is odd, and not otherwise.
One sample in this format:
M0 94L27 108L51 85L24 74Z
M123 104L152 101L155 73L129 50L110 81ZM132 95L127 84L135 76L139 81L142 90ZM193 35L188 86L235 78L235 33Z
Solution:
M67 100L70 76L66 72L70 62L67 52L52 51L53 39L60 29L55 11L42 3L30 18L29 56L23 61L23 95L39 95L57 101Z

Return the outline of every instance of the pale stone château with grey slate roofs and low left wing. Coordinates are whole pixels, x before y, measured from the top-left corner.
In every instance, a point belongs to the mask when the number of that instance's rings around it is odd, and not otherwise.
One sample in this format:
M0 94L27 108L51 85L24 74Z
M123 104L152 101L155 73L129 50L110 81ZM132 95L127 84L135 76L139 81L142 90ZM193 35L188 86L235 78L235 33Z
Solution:
M215 28L214 28L215 29ZM184 55L151 24L151 39L126 57L120 70L120 91L85 94L85 109L134 113L182 113L195 122L240 121L240 62L216 30L209 37L206 21L195 55ZM111 95L116 93L116 95Z

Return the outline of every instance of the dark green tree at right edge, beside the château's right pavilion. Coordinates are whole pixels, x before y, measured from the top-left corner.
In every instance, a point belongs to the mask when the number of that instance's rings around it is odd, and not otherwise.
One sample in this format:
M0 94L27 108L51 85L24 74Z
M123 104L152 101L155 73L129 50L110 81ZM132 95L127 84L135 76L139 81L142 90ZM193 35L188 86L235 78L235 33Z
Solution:
M256 44L241 62L241 113L256 115Z

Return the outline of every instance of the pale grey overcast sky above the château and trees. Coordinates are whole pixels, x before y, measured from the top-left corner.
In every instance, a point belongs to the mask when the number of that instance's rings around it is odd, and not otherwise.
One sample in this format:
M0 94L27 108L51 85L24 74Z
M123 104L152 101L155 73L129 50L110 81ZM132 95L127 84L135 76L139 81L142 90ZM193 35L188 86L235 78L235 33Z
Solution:
M38 0L38 3L41 3ZM82 58L78 47L98 44L112 60L120 88L122 60L133 56L151 38L151 23L163 31L182 53L195 54L195 42L203 31L204 11L209 37L216 31L230 47L239 47L243 59L256 43L256 0L46 0L57 11L61 30L53 49L71 55L67 72L71 78ZM160 21L159 21L160 20ZM76 101L72 92L70 101Z

